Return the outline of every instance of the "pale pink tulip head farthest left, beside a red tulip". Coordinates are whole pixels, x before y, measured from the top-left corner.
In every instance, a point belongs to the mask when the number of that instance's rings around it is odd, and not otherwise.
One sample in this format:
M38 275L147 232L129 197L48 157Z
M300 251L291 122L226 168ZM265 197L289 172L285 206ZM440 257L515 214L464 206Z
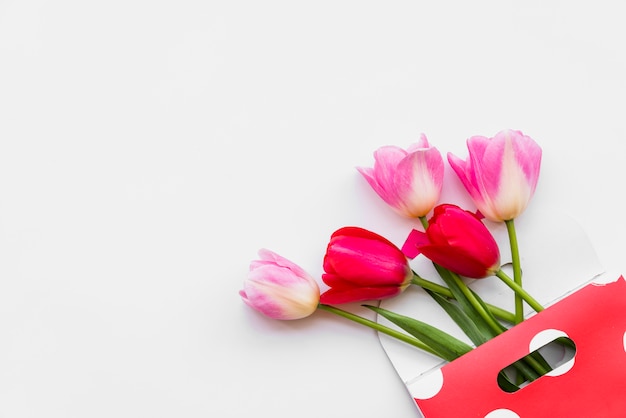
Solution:
M291 261L269 250L250 263L250 273L239 292L243 301L274 319L300 319L319 304L320 289L313 277Z

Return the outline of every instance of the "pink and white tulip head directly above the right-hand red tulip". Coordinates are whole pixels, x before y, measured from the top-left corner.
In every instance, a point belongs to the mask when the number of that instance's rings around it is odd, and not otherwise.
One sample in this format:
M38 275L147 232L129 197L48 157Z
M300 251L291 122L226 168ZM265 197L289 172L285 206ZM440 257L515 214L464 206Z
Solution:
M385 146L374 152L374 168L357 170L396 212L426 216L437 204L443 184L443 159L425 135L406 151Z

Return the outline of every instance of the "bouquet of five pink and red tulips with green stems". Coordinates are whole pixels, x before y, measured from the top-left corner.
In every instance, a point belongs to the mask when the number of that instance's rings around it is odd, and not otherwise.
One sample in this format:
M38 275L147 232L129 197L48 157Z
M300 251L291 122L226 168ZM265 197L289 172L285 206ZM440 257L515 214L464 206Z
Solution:
M396 246L359 227L335 231L323 260L324 292L301 267L272 251L261 250L260 259L251 263L240 291L243 301L279 320L307 317L321 309L445 361L453 361L521 323L524 304L536 312L543 310L522 286L515 230L515 219L535 192L541 148L532 138L515 130L499 132L493 138L473 136L467 140L467 148L467 159L449 153L447 160L475 203L475 210L439 203L444 160L424 135L406 150L395 146L379 148L374 153L374 167L358 171L398 214L419 220L403 245ZM501 268L500 250L483 223L485 218L506 225L512 277ZM413 270L411 260L418 256L433 263L441 279L439 283ZM496 276L511 289L512 312L486 303L467 285L467 279L490 276ZM371 303L393 298L411 285L427 292L473 345L416 318ZM338 306L353 302L363 302L363 306L397 327L382 325ZM502 388L513 392L551 368L534 352L514 363L510 370L503 370L498 381Z

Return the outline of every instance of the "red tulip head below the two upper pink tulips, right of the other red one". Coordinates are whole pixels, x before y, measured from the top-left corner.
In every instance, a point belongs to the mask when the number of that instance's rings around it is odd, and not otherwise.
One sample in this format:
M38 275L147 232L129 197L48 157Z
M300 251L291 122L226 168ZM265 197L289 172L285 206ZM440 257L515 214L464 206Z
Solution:
M435 264L475 279L500 268L498 244L473 213L455 205L439 205L426 232L413 230L402 251L409 258L423 254Z

